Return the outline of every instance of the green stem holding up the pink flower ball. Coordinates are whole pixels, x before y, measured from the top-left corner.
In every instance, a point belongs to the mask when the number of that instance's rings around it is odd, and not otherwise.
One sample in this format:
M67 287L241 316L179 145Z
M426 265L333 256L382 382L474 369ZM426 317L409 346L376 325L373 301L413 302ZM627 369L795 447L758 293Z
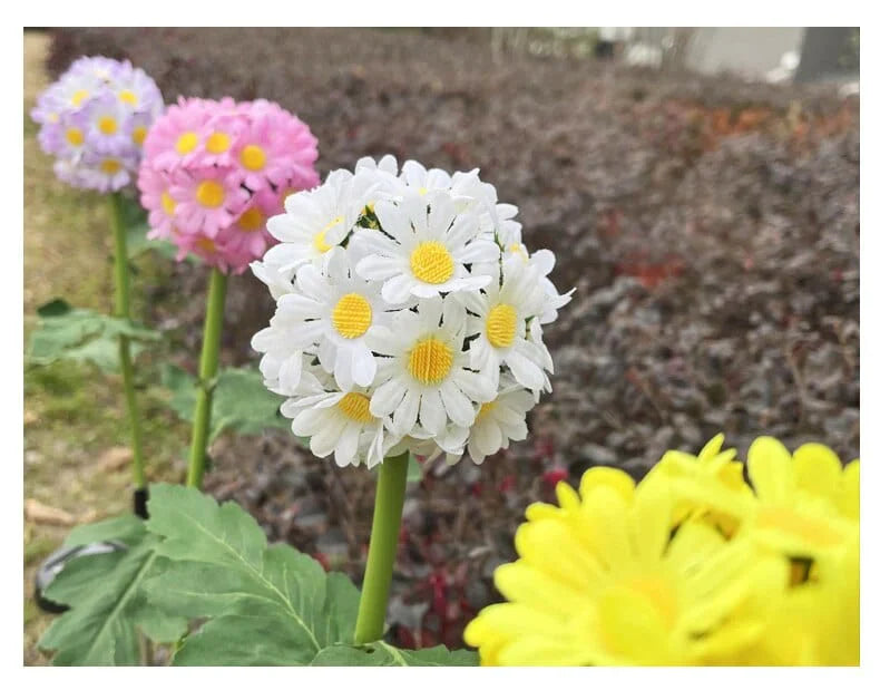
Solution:
M205 449L211 433L211 398L214 392L214 378L217 376L219 337L223 330L223 305L226 302L226 275L217 269L211 272L208 286L205 333L202 339L202 357L198 360L198 392L196 410L193 416L193 443L189 446L189 470L186 485L199 488L205 474Z

